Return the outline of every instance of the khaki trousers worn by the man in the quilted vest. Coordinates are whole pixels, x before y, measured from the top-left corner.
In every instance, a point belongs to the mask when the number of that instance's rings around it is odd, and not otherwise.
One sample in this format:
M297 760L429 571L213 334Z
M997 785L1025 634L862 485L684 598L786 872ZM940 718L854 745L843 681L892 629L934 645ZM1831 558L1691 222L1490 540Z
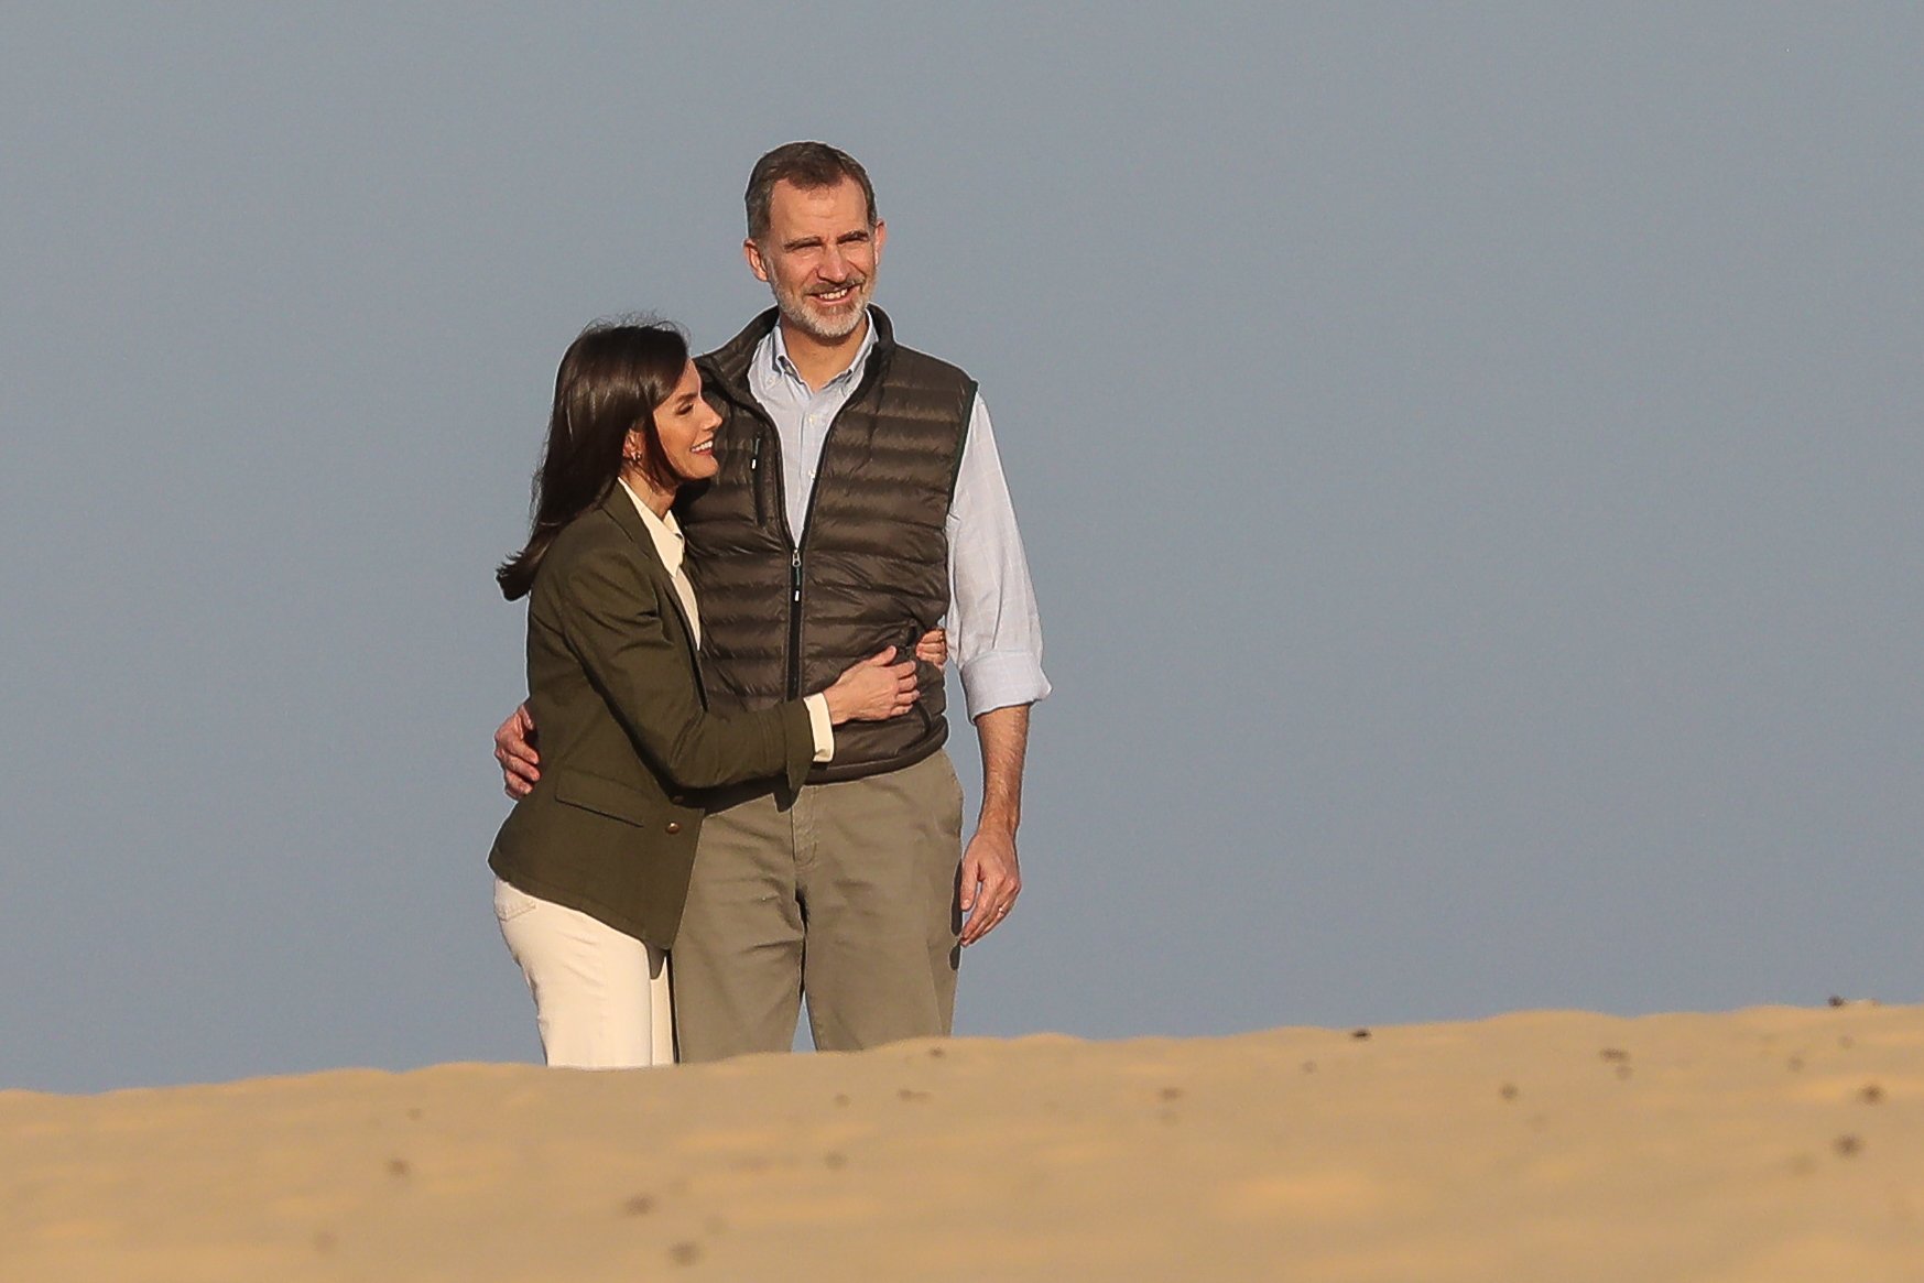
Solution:
M702 821L675 937L681 1060L947 1035L960 962L962 785L947 752L760 792Z

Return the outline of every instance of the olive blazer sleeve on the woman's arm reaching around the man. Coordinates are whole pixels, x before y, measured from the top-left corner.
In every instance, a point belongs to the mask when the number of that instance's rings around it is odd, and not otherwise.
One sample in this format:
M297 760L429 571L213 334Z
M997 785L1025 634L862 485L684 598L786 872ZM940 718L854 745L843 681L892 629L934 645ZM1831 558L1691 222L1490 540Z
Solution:
M702 706L687 642L635 556L587 548L560 579L562 637L641 756L681 789L785 775L800 789L816 741L800 700L723 717Z

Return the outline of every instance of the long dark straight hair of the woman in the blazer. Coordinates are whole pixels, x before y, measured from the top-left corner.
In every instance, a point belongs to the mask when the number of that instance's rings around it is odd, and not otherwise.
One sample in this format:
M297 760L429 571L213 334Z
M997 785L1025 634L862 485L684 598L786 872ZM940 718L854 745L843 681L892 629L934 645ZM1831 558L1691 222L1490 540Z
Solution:
M527 546L494 571L502 596L527 596L554 537L608 494L621 475L629 431L641 429L648 442L646 467L668 475L654 408L687 367L689 340L664 321L596 321L568 346L554 375L548 444L535 469Z

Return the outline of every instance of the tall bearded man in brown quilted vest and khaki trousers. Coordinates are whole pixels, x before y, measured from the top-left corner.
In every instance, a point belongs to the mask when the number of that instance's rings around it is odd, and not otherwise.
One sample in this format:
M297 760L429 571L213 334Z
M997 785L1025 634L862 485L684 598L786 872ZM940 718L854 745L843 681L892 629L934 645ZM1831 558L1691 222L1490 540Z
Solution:
M677 504L716 712L820 685L945 621L981 742L962 850L941 673L914 712L835 733L798 794L714 800L673 950L683 1060L947 1035L962 944L1022 891L1016 825L1041 623L989 412L960 369L895 342L870 304L887 227L868 173L822 142L760 162L748 269L775 308L698 360L720 471ZM847 656L847 658L845 658ZM496 733L535 777L525 712Z

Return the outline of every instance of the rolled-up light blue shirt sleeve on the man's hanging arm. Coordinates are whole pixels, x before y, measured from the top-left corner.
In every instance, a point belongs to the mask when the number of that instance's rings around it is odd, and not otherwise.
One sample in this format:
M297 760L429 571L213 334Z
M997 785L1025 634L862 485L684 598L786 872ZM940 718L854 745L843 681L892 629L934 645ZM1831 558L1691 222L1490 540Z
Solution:
M981 398L970 415L949 500L949 644L962 671L968 716L1049 694L1043 619L1016 529L1002 458Z

